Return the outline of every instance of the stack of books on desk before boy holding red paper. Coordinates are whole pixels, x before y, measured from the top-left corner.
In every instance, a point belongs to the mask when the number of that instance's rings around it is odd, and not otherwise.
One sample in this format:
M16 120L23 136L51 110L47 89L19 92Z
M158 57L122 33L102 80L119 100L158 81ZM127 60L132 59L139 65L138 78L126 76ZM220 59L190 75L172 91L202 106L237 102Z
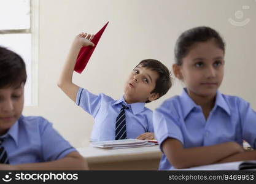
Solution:
M136 147L150 147L155 145L156 140L139 140L139 139L122 139L122 140L109 140L92 142L93 147L106 148L106 149L120 149L120 148L136 148Z

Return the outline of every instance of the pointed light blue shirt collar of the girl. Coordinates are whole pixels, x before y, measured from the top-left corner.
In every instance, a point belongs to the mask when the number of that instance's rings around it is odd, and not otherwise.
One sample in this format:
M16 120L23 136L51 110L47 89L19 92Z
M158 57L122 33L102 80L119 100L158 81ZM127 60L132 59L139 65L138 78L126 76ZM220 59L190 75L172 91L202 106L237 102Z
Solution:
M196 105L195 102L190 98L190 96L188 96L186 88L182 90L182 94L180 96L180 101L184 112L184 118L187 117L188 113L190 113L193 109L201 109L201 107L199 105ZM219 91L217 91L216 94L216 100L213 110L215 110L217 106L225 110L225 112L230 115L230 108L228 107L227 102Z

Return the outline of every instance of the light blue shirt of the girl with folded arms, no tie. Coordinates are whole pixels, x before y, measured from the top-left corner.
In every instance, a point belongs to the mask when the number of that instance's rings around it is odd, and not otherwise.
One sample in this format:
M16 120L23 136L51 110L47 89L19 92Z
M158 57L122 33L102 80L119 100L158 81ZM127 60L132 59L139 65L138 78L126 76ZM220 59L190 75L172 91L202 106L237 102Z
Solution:
M242 146L242 140L256 147L256 112L243 99L219 91L208 120L201 106L196 105L184 89L180 96L167 99L153 112L153 126L160 148L168 137L179 140L184 148L224 142L237 142ZM159 169L175 169L164 153Z

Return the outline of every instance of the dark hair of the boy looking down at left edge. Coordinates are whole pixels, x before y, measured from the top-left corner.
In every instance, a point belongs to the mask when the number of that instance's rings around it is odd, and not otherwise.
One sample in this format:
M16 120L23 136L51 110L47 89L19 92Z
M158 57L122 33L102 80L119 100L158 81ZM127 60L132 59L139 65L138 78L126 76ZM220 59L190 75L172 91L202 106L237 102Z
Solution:
M26 66L17 53L0 46L0 88L26 83Z

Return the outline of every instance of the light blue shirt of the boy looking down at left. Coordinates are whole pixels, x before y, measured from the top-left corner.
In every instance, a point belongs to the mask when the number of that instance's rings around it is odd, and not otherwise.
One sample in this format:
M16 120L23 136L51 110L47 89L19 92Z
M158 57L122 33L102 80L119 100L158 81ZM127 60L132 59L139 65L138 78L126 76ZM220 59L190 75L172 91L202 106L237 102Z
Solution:
M21 117L4 134L2 143L10 164L39 163L63 158L76 151L42 117Z

